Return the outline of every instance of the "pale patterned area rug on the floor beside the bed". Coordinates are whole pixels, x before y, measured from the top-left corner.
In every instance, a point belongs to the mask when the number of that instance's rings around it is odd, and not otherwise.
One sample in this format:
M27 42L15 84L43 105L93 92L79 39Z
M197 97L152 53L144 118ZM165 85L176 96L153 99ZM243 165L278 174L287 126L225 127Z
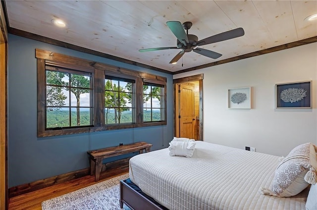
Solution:
M120 210L119 181L123 174L103 182L42 202L42 210ZM130 210L123 206L123 210Z

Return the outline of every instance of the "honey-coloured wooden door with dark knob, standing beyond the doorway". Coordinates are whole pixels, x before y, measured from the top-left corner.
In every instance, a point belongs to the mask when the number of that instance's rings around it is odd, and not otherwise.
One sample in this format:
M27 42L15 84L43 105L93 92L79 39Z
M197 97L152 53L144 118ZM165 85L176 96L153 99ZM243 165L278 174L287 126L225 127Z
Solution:
M193 84L179 85L179 137L194 139L194 88Z

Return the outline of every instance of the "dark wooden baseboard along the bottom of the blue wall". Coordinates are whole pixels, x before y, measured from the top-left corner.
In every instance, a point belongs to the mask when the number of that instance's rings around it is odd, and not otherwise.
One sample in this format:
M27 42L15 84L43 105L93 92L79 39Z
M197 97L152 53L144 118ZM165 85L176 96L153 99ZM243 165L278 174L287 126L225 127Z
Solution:
M127 165L129 164L129 159L130 157L105 163L103 164L101 171L102 172L105 171L106 168L107 168L107 171L113 168L126 169ZM81 170L64 173L64 174L53 176L50 178L37 180L28 184L22 184L15 187L11 187L8 189L8 196L9 198L12 198L15 196L23 195L25 193L33 192L39 189L50 187L55 184L81 178L84 176L90 176L90 168L84 168Z

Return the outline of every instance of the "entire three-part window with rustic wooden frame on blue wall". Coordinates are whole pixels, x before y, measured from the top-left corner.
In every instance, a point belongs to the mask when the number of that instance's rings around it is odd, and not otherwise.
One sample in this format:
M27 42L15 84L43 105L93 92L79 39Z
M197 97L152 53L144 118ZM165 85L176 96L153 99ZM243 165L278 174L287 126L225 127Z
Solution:
M36 49L38 137L166 125L166 78Z

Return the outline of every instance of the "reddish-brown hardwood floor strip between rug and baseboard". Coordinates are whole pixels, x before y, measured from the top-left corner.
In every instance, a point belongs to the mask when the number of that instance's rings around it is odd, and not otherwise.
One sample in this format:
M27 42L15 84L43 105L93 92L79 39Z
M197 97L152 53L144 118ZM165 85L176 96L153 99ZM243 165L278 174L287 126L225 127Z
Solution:
M107 168L100 174L98 182L105 181L112 177L128 173L128 165L117 165L116 167ZM42 210L42 202L63 194L78 190L89 185L96 184L95 176L84 176L82 178L63 182L60 184L46 187L41 190L15 196L9 199L8 210ZM119 201L118 201L119 202Z

